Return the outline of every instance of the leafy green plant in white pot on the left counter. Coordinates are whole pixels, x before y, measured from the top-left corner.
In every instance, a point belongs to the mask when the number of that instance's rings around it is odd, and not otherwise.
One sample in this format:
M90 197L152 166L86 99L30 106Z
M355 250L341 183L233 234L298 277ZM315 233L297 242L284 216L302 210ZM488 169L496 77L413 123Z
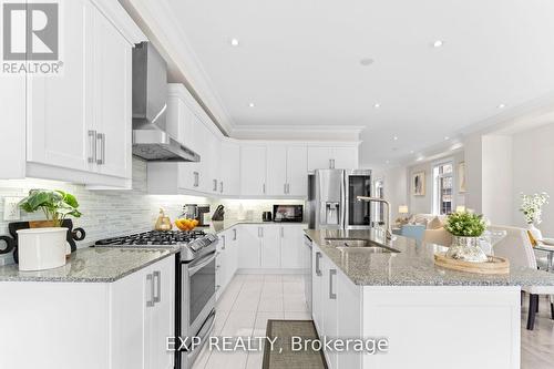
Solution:
M47 217L35 223L38 227L18 230L19 269L42 270L65 265L68 229L62 224L68 216L81 216L75 196L59 189L31 189L19 207L27 213L42 211Z

